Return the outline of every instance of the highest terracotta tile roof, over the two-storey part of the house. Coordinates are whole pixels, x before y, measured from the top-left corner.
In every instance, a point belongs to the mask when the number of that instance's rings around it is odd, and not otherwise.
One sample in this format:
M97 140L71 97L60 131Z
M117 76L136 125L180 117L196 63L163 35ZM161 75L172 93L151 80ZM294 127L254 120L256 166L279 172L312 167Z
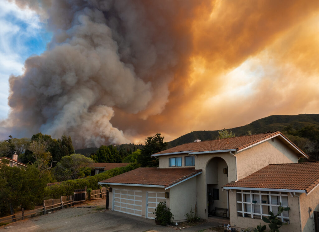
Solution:
M226 138L226 139L216 139L216 140L208 140L208 141L202 141L202 142L190 142L190 143L185 143L185 144L176 146L174 148L160 151L158 153L155 153L154 155L173 153L173 152L183 152L183 151L204 152L204 151L217 151L217 150L228 150L228 149L236 149L237 151L240 151L241 149L244 149L250 145L256 144L257 142L263 141L265 139L271 138L272 136L275 136L277 134L279 134L282 138L285 138L287 141L289 141L285 135L283 135L279 131L276 131L276 132L268 132L263 134L237 136L237 137ZM289 142L293 144L291 141ZM293 146L295 148L298 148L294 144ZM308 157L301 150L300 152L302 155ZM300 154L300 152L298 151L296 153Z

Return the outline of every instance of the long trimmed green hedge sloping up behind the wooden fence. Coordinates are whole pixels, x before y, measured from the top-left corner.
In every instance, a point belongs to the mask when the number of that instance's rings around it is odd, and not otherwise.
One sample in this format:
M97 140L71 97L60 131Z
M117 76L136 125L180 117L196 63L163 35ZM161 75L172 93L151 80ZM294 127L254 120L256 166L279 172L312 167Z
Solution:
M124 172L134 170L138 168L137 163L131 163L125 167L114 168L92 177L86 177L83 179L66 180L60 184L47 186L44 188L44 199L57 199L61 196L73 195L75 189L84 189L85 186L91 189L98 189L98 182L120 175Z

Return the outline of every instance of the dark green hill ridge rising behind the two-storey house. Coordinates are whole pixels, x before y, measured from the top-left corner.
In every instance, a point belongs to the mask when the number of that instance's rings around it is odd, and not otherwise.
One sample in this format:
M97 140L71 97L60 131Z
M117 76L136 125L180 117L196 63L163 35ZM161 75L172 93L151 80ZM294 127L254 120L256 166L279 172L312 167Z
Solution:
M300 129L306 126L319 126L319 114L298 114L298 115L271 115L258 119L245 126L229 128L236 136L244 135L251 130L254 134L267 131L283 131L287 126ZM221 130L224 128L220 128ZM211 140L218 138L218 130L215 131L192 131L177 139L167 142L167 148L175 147L187 142L194 142L195 139Z

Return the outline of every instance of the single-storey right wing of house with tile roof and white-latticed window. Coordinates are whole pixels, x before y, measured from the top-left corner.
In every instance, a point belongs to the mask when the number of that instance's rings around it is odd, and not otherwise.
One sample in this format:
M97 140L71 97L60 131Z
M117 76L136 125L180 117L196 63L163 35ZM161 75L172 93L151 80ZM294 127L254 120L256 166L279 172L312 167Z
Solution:
M319 162L270 164L238 182L229 190L230 223L239 228L256 227L269 211L278 212L281 202L289 211L279 214L289 225L282 232L317 231L314 211L319 211ZM318 228L319 229L319 228Z

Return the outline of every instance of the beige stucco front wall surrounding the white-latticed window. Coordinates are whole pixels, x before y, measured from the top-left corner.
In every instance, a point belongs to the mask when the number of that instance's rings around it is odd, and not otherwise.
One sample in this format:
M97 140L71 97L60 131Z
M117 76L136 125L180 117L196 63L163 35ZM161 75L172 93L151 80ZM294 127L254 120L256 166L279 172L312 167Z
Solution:
M291 197L288 193L288 205L290 224L284 225L280 228L281 232L298 232L300 231L300 214L299 214L299 199L296 196ZM256 228L259 223L267 225L266 231L269 230L268 224L260 218L237 216L237 201L236 190L229 191L229 207L230 207L230 225L237 228L245 229L248 227Z

